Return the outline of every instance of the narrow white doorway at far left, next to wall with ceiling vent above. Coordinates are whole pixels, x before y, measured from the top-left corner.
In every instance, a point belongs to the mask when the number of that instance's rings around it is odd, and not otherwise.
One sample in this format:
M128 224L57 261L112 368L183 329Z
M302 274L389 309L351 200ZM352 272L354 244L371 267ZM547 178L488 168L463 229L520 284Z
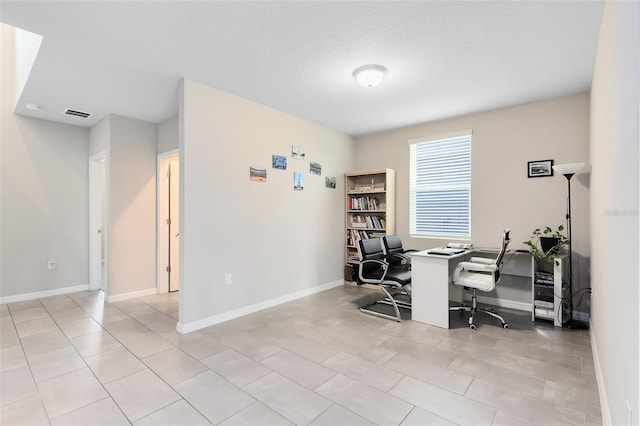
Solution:
M89 157L89 289L107 287L107 154Z

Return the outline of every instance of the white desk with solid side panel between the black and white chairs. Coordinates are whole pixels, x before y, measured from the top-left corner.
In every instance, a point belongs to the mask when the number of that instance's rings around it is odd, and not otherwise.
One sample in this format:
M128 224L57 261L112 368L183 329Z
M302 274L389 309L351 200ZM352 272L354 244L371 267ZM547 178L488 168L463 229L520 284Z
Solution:
M449 328L449 300L463 300L463 288L451 284L456 265L471 256L466 251L451 256L429 254L428 250L411 255L411 319L441 328Z

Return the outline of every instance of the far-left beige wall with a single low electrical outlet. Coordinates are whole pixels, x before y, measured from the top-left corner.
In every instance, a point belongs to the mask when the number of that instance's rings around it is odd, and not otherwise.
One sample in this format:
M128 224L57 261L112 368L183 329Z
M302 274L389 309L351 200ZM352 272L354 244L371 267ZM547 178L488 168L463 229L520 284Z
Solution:
M14 32L1 27L0 297L8 301L88 285L89 132L13 114Z

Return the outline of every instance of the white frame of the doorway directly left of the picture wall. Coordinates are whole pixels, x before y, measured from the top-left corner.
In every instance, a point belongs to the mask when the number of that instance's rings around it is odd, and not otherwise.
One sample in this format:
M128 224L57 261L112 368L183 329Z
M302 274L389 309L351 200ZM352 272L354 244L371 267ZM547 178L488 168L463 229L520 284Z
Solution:
M156 185L156 200L157 206L156 211L158 212L157 222L156 222L156 235L158 242L156 246L156 289L158 293L168 293L169 292L169 274L167 273L167 254L169 252L169 238L168 233L165 232L164 225L167 223L167 219L169 218L169 211L167 209L168 204L168 193L169 193L169 185L166 179L167 172L169 171L169 160L173 157L179 157L180 150L173 149L171 151L163 152L162 154L158 154L158 161L156 163L157 166L157 185ZM176 202L180 202L180 200L176 200Z

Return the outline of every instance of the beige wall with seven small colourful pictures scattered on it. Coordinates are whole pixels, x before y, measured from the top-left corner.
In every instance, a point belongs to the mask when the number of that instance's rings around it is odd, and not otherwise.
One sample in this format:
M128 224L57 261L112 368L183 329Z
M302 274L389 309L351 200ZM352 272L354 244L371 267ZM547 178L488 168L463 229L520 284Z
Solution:
M344 177L353 141L339 132L192 80L181 88L180 325L342 283ZM291 159L302 145L306 160ZM289 157L271 168L272 154ZM309 174L309 160L322 176ZM267 169L251 182L249 167ZM293 172L305 174L293 190ZM325 188L325 175L338 178ZM225 274L232 285L225 285ZM195 325L194 325L195 324Z

